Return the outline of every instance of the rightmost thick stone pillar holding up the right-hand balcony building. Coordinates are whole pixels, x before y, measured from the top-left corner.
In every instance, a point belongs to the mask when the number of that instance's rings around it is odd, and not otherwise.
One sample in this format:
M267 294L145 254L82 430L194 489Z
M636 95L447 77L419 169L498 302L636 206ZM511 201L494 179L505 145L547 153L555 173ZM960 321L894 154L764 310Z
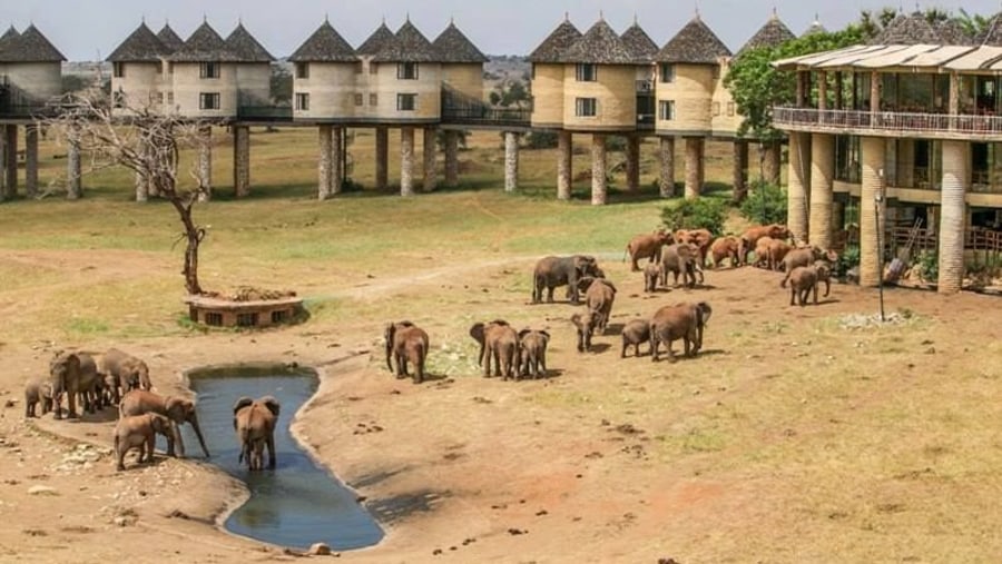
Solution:
M943 141L943 187L940 196L940 294L955 294L964 284L964 239L971 178L971 145Z

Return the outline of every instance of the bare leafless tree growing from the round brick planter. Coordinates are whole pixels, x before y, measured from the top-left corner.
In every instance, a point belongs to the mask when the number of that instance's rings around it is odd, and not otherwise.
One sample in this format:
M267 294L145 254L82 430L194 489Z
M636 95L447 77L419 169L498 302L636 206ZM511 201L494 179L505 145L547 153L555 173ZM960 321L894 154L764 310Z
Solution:
M109 103L98 89L69 95L58 117L48 119L56 130L72 132L78 150L89 156L90 168L125 167L137 177L137 200L150 192L169 201L177 210L185 232L178 240L185 247L185 287L190 295L203 294L198 284L198 246L206 236L191 217L196 201L209 196L207 180L195 170L191 182L183 186L178 178L178 154L183 149L204 150L208 138L199 130L210 127L204 120L165 115L154 105L129 107L125 99ZM114 108L112 108L114 106Z

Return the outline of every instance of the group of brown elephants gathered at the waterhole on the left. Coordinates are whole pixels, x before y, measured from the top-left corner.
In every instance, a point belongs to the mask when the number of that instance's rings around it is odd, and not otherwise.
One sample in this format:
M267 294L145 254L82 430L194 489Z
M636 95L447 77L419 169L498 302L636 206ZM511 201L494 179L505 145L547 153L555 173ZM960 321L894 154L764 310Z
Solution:
M209 457L195 403L176 396L153 392L149 368L143 359L117 348L100 355L100 363L82 352L57 352L49 363L48 379L31 379L24 386L24 416L53 412L62 418L62 398L67 416L77 418L80 409L87 413L117 406L118 420L112 434L116 467L125 469L125 456L139 451L138 462L151 462L156 436L167 441L168 456L184 456L185 447L179 426L191 425L202 452ZM79 402L79 404L78 404ZM266 396L254 400L242 397L234 406L233 426L240 445L239 461L246 459L250 469L264 467L264 449L268 449L268 467L275 467L275 423L278 402Z

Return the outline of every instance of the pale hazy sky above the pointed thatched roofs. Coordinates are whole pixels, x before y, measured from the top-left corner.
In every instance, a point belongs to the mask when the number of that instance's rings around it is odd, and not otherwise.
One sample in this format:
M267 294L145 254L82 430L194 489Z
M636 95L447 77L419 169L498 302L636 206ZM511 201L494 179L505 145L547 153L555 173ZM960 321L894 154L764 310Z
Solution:
M33 22L70 60L105 58L143 20L158 30L165 20L186 39L208 18L226 37L237 21L275 57L294 51L323 22L331 23L353 46L358 46L382 21L395 30L410 13L418 28L434 39L454 18L455 23L489 55L527 55L569 12L571 21L587 30L603 13L622 31L639 19L656 43L664 44L696 13L731 49L737 50L760 28L773 9L794 33L803 32L815 13L829 29L842 28L862 9L904 7L902 0L3 0L0 26L22 30ZM998 0L920 2L969 13L994 14Z

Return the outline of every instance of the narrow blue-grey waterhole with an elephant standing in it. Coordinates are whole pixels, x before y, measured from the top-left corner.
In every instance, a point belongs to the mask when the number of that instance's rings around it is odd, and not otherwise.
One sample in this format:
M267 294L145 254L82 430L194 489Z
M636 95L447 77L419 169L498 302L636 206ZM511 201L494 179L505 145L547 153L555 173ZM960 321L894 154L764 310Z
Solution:
M243 481L250 491L249 501L226 520L227 531L302 550L326 543L334 550L348 551L383 538L382 528L355 495L317 466L288 431L295 413L316 392L314 372L283 366L214 368L189 373L188 377L197 394L198 423L213 455L208 462ZM282 405L275 431L277 466L274 471L249 472L246 461L237 462L233 405L240 396L257 399L266 395L275 396ZM188 456L200 456L190 426L181 428Z

